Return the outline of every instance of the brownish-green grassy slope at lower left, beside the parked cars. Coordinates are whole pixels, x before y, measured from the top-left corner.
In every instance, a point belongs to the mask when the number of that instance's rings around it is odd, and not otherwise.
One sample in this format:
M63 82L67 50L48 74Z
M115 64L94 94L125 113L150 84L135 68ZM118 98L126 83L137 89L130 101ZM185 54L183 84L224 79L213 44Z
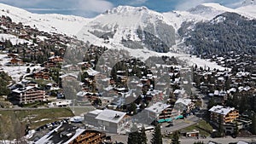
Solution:
M24 135L26 124L31 129L36 129L60 118L72 116L73 112L69 108L0 111L0 140L12 140Z

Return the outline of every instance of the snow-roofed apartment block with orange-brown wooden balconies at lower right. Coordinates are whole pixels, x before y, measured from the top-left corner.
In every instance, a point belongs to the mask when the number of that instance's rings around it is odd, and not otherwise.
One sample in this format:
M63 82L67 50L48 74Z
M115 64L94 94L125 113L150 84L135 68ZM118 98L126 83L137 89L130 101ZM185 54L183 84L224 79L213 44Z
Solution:
M209 109L211 121L226 124L239 118L239 112L234 107L214 106Z

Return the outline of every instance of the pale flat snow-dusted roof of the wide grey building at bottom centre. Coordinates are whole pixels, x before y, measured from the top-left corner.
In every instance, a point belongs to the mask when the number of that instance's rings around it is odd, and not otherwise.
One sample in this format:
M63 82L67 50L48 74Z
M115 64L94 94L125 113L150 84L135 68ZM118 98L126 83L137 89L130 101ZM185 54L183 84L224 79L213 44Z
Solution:
M118 124L125 117L125 112L118 112L109 109L103 110L96 119Z

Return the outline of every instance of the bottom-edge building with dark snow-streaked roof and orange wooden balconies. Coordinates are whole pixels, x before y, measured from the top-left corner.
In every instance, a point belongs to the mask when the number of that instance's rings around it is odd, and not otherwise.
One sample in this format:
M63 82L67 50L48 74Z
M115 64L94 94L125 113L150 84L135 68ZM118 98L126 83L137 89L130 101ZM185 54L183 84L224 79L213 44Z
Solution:
M85 130L72 124L61 124L33 144L100 144L105 138L106 134L96 130Z

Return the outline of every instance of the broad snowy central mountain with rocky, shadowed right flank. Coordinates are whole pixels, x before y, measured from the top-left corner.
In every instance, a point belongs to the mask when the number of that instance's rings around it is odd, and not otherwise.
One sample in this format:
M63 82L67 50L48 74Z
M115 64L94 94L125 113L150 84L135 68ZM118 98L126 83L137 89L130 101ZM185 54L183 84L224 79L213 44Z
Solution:
M107 43L122 43L131 49L145 46L166 52L175 43L173 26L166 23L163 14L146 7L119 6L108 10L84 26L83 32L90 32Z

